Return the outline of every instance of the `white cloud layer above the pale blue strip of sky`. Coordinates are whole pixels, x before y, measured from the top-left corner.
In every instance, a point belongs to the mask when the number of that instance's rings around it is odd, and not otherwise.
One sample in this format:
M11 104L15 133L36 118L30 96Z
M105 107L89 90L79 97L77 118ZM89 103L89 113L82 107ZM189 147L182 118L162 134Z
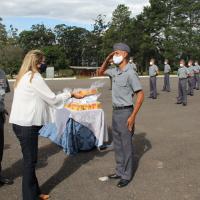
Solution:
M149 0L0 0L0 17L28 17L90 24L98 14L110 19L118 4L130 7L135 16Z

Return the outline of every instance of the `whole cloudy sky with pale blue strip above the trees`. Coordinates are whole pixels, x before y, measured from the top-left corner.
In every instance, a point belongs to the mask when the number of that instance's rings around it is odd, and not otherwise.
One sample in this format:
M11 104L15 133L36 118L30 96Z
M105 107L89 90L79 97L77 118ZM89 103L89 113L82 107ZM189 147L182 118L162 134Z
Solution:
M99 14L110 20L118 4L129 6L132 15L142 12L149 0L0 0L0 17L9 27L28 30L33 24L53 28L57 24L92 28Z

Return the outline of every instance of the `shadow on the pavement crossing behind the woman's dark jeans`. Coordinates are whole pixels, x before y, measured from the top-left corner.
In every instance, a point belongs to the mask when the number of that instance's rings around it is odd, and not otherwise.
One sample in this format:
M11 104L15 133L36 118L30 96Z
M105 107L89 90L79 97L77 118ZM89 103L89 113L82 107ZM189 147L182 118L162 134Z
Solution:
M48 157L59 153L61 150L62 150L61 148L59 148L57 145L53 143L41 147L38 151L37 168L43 168L47 166ZM16 179L17 177L22 176L22 168L23 168L23 160L20 159L17 162L15 162L11 167L3 170L2 173L7 177Z

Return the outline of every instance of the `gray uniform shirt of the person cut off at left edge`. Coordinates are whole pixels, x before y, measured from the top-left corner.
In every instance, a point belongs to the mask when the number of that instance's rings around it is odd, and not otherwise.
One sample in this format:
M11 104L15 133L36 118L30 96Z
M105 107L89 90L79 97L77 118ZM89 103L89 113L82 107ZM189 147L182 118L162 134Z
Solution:
M6 74L3 70L0 69L0 112L3 112L5 109L4 98L5 93L10 92L10 87Z

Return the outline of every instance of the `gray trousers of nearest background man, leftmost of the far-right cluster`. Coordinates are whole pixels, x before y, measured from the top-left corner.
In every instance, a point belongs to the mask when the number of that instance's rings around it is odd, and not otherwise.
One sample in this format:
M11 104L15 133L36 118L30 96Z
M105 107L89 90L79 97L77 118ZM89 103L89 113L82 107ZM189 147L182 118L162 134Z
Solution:
M179 78L178 82L178 103L187 104L187 78Z

